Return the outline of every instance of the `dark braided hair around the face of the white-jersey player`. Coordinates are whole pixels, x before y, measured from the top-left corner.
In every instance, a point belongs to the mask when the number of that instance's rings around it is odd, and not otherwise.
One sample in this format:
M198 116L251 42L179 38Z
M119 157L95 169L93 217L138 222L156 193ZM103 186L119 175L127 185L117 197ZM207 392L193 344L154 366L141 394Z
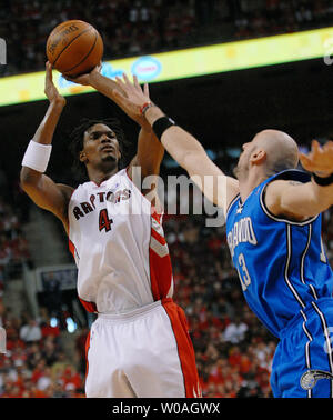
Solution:
M121 152L121 158L118 162L118 168L122 169L125 167L125 152L129 146L129 142L124 136L122 130L121 123L117 118L82 118L80 120L80 124L71 132L70 134L70 143L69 149L73 158L73 166L72 170L74 172L75 178L88 178L87 168L83 162L80 161L79 154L83 150L83 141L84 141L84 133L90 127L95 124L104 124L108 126L112 131L114 131L117 136L117 140L119 143L119 150Z

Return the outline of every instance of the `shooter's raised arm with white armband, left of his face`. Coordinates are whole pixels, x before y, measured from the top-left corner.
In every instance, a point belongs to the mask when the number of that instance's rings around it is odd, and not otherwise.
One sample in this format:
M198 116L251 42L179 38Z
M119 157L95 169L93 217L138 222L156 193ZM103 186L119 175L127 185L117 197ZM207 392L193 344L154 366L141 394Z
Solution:
M59 94L52 82L52 68L49 63L47 63L44 93L50 104L26 151L20 181L22 189L32 201L54 213L67 229L67 207L73 189L57 184L43 173L51 153L52 137L65 106L65 99Z

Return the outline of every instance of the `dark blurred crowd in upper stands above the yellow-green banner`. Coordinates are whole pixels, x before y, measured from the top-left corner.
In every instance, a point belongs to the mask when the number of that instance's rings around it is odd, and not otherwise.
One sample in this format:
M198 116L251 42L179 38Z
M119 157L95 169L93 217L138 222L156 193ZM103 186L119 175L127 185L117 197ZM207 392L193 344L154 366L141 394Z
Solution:
M46 41L80 19L104 41L104 59L331 26L332 0L11 0L0 9L2 74L43 70Z

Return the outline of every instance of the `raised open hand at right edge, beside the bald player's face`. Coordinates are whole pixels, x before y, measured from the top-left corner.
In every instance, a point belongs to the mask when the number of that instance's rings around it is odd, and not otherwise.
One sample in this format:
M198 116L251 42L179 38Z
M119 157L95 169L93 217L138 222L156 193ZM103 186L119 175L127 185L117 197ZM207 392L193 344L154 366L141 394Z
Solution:
M327 141L321 147L313 140L311 151L307 154L300 153L300 161L306 171L329 177L333 173L333 141Z

